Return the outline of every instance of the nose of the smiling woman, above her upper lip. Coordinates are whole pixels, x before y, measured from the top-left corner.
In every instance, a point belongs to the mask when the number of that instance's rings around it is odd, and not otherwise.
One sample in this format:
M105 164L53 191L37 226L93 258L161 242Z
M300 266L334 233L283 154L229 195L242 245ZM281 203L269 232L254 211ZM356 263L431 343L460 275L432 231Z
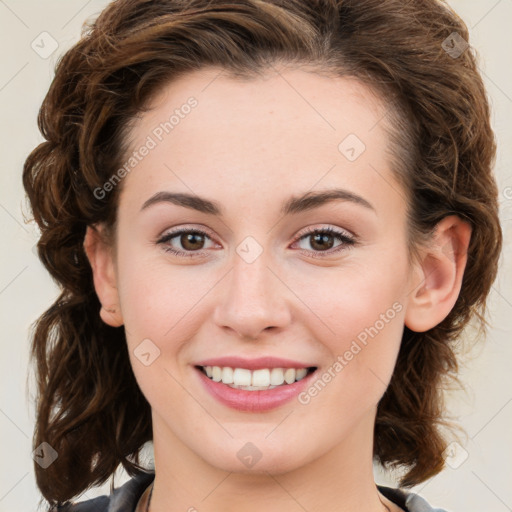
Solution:
M219 290L216 325L246 340L260 339L263 331L286 327L291 319L286 297L291 293L283 281L263 254L252 263L235 255L233 268Z

